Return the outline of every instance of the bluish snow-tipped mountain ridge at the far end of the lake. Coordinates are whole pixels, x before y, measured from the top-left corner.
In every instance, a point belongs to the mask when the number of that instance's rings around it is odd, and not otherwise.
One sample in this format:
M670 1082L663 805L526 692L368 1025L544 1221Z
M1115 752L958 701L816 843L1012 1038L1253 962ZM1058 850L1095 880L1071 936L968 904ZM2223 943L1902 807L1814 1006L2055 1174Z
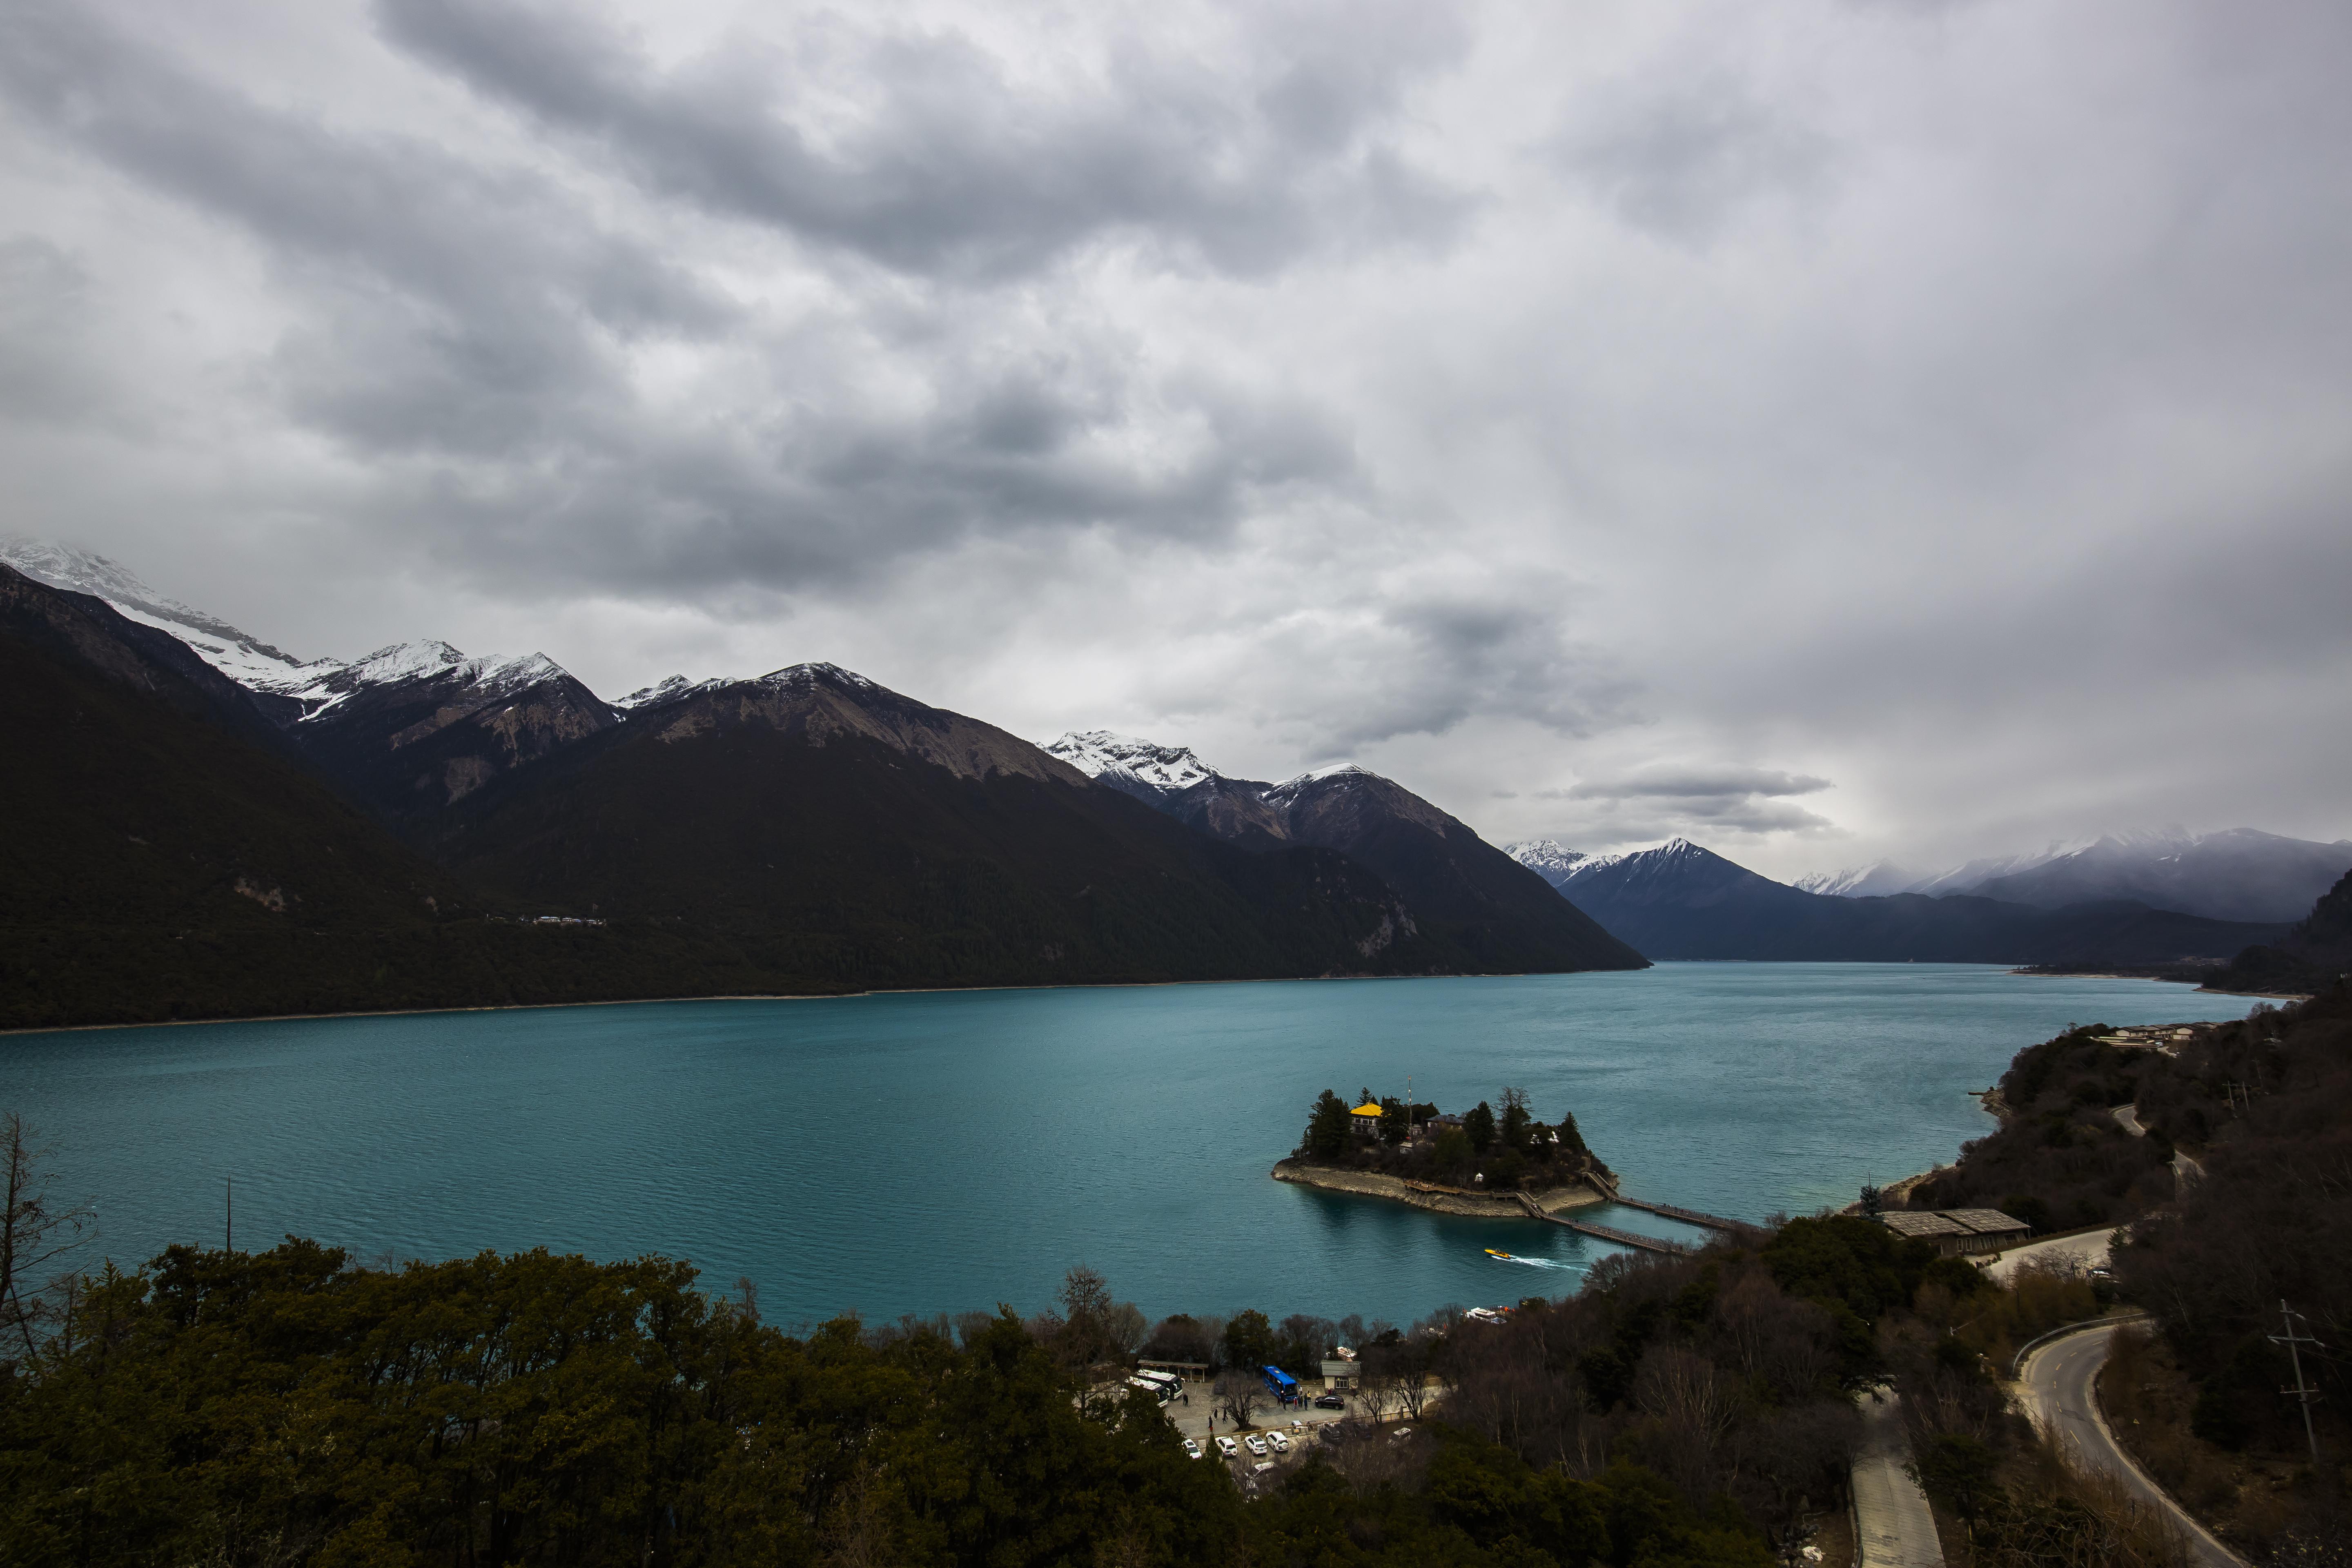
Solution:
M1625 856L1536 839L1512 853L1653 959L2178 964L2220 961L2286 929L2133 900L2044 910L1969 893L1839 898L1771 882L1689 839Z

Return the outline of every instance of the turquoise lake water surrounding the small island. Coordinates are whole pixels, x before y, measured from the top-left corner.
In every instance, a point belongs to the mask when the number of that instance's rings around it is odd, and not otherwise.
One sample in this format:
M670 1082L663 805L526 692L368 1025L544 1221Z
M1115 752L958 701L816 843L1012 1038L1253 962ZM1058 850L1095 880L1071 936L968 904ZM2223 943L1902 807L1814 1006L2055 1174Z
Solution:
M1992 1126L1966 1091L2070 1023L2249 1006L1945 964L668 1001L19 1034L0 1107L96 1206L92 1267L219 1246L235 1178L247 1248L668 1253L788 1326L1028 1312L1073 1262L1152 1316L1404 1324L1566 1293L1606 1248L1268 1180L1322 1088L1515 1084L1628 1194L1764 1218L1950 1161Z

